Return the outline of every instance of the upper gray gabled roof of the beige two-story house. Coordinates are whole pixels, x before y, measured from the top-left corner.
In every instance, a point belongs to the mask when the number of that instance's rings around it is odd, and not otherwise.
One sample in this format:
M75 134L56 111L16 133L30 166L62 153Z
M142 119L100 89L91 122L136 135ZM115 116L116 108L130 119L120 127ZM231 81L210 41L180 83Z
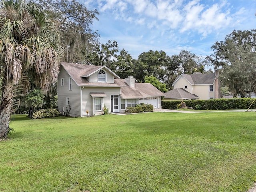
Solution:
M216 76L214 73L200 73L194 72L193 74L181 74L176 77L172 86L181 78L184 77L191 85L212 85L215 82Z

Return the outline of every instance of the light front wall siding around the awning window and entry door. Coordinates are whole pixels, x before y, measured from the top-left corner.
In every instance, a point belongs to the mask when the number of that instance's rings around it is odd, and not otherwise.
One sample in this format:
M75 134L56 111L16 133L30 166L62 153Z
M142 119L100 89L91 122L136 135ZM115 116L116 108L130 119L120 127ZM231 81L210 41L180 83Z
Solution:
M82 116L87 116L86 111L88 110L89 116L100 115L101 112L93 111L93 98L90 93L104 92L107 97L103 98L103 105L105 104L109 112L111 109L111 95L120 95L119 87L84 87L82 88ZM103 106L102 106L103 107ZM121 106L120 106L121 107Z

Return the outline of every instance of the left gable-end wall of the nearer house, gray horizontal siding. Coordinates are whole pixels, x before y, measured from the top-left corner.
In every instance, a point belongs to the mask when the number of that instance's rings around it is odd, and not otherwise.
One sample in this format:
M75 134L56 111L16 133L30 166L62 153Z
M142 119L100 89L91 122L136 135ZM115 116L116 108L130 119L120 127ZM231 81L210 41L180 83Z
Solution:
M64 85L61 85L61 79L64 80ZM70 76L64 70L64 68L60 68L60 73L58 76L58 110L62 113L62 110L64 108L64 111L66 111L66 108L68 108L67 105L67 98L70 98L70 116L81 116L80 109L80 87L77 86L77 84L74 82L74 80L71 78L72 82L72 90L69 90L69 78Z

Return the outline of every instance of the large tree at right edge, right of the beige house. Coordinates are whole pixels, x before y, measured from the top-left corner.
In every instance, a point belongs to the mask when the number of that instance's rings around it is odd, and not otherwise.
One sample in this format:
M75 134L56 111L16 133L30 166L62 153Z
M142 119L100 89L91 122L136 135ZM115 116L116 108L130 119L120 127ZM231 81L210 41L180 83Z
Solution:
M256 92L256 30L234 30L224 41L215 42L210 59L221 68L224 86L237 96Z

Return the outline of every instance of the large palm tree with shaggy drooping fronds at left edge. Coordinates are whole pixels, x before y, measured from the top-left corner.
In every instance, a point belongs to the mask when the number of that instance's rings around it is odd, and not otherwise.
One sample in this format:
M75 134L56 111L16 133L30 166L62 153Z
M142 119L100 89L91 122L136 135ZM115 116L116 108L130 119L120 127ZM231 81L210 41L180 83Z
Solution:
M0 138L9 130L16 87L27 74L45 92L58 77L60 37L46 12L26 0L0 4ZM29 88L24 84L23 89Z

